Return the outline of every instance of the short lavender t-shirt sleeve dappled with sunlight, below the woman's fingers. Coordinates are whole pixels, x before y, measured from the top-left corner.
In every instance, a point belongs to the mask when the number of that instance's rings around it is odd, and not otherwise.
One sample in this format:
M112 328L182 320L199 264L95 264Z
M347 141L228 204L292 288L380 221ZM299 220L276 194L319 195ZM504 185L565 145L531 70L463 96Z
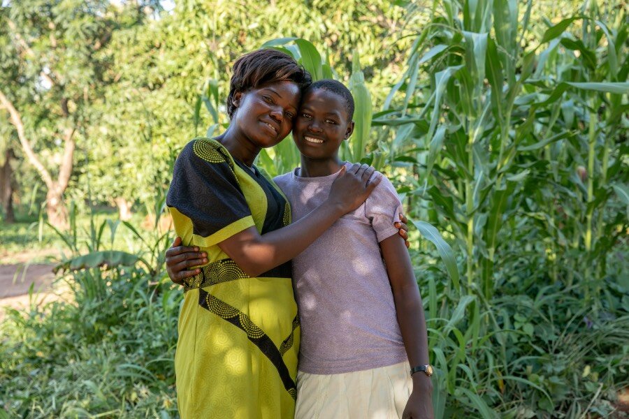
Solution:
M396 189L389 179L382 176L382 181L375 187L365 204L365 215L371 221L378 242L398 233L393 223L400 221L402 203Z

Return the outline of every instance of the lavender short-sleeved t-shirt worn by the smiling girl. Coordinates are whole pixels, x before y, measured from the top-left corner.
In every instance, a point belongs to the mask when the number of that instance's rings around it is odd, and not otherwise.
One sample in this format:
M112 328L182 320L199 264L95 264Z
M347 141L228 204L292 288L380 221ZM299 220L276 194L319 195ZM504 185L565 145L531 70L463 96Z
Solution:
M349 163L347 163L349 168ZM275 177L293 221L326 200L338 174ZM393 293L378 242L397 234L400 199L383 178L357 210L345 214L293 259L301 318L299 370L340 374L407 360Z

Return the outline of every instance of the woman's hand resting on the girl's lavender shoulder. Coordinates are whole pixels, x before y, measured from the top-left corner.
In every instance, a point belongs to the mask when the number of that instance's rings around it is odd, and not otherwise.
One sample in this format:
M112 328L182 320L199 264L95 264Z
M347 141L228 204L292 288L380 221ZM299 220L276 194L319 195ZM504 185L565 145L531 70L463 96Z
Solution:
M338 207L341 214L356 210L382 180L382 175L378 175L369 182L374 172L375 168L367 164L354 163L349 169L343 166L334 179L328 201Z

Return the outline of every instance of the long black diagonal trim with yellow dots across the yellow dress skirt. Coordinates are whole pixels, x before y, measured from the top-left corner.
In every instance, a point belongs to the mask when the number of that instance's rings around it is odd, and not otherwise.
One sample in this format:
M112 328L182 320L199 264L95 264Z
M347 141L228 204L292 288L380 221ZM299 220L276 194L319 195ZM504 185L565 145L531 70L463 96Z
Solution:
M273 363L277 369L277 373L280 374L284 388L289 392L293 399L297 398L297 387L295 381L291 378L288 367L282 359L282 353L277 349L277 346L273 344L273 341L263 332L257 325L255 325L247 314L242 311L231 307L231 305L219 300L214 295L211 295L203 289L199 290L198 304L204 309L211 311L220 318L223 318L229 323L235 325L240 330L247 333L247 337L252 343L257 346L266 358ZM293 324L295 322L293 321ZM291 333L292 335L292 333Z

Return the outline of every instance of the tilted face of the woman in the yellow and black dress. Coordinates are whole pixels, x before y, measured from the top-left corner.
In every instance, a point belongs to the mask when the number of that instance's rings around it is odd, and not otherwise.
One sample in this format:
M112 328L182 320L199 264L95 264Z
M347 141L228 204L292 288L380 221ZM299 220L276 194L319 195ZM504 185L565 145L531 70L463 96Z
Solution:
M291 132L300 98L294 82L275 82L234 95L236 123L257 147L273 147Z

